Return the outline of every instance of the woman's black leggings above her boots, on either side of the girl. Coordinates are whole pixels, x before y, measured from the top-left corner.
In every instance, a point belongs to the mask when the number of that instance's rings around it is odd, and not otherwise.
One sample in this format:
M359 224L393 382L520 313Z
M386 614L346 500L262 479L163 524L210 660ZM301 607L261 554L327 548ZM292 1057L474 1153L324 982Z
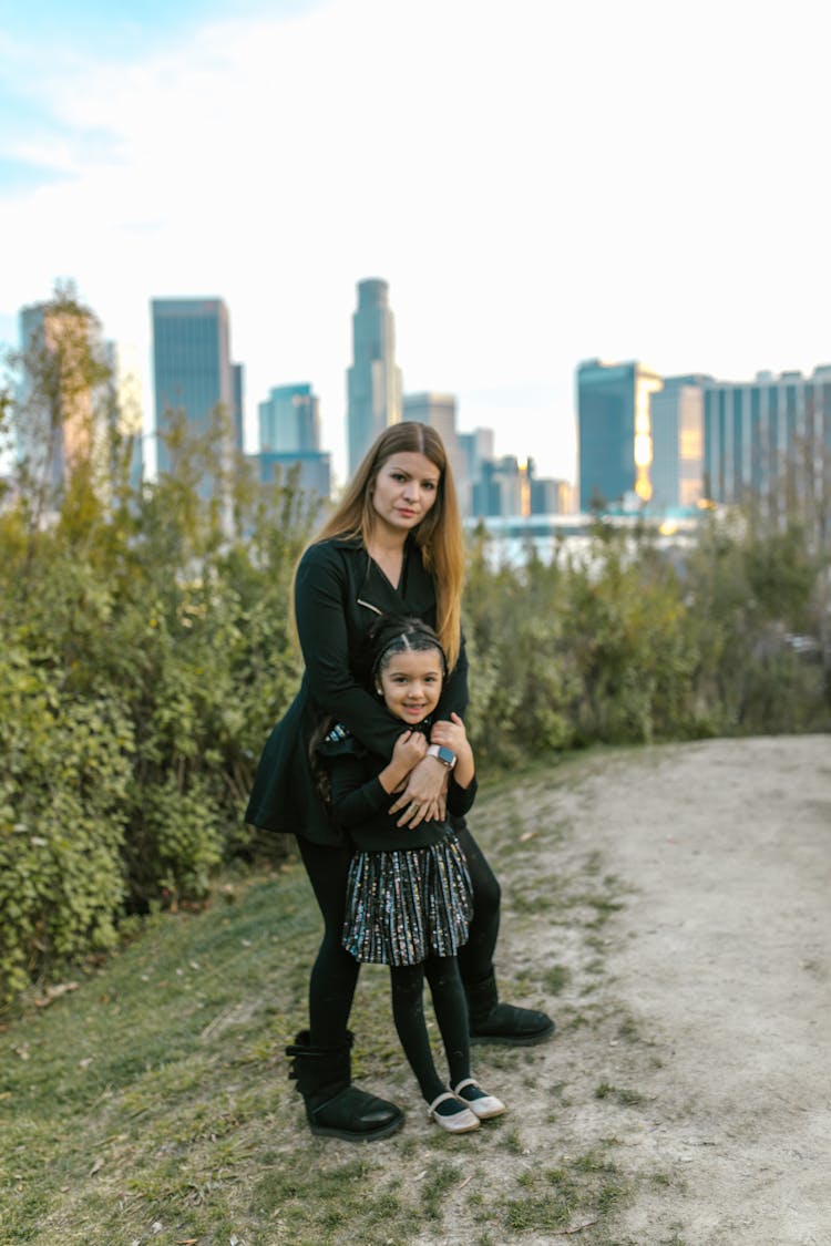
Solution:
M467 826L453 820L453 830L465 850L473 883L473 920L468 941L458 949L458 969L462 982L475 983L486 978L493 968L493 949L500 932L500 885ZM323 942L309 981L311 1044L338 1048L346 1038L360 968L340 942L351 850L300 839L298 847L324 921Z

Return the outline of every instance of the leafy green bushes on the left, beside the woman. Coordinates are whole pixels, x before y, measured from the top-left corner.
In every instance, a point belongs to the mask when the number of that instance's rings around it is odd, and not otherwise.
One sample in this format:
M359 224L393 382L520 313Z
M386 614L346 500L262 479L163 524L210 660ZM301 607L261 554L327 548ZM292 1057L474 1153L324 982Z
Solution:
M191 533L157 503L29 532L0 516L0 1001L110 946L126 912L203 900L252 851L253 769L300 678L309 515L277 490L211 548L192 498Z

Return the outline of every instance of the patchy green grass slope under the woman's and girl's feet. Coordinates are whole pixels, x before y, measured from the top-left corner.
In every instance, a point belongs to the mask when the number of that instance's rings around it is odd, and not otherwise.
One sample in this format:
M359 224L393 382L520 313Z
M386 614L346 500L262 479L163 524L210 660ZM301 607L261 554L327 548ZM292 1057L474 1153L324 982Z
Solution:
M544 809L548 776L534 781ZM512 840L502 851L506 804ZM512 790L486 789L477 815L507 888L527 878L538 887L539 905L510 908L517 947L533 946L541 915L573 941L568 963L520 953L512 992L529 1003L559 996L559 1043L579 1042L582 1025L619 1025L613 1008L576 1007L587 981L602 979L588 939L599 915L612 921L615 883L588 857L568 877L539 878L544 827L520 841ZM557 824L558 844L563 834ZM495 1085L500 1073L513 1079L517 1106L463 1141L450 1138L421 1111L382 968L361 972L354 1072L402 1103L406 1126L373 1146L313 1138L283 1049L305 1015L318 941L304 871L287 865L219 888L201 913L156 916L103 966L80 972L75 989L0 1027L2 1246L407 1246L440 1242L449 1226L473 1244L503 1244L576 1225L586 1226L582 1246L623 1241L615 1217L635 1179L618 1170L612 1144L598 1149L603 1129L589 1150L566 1155L558 1141L562 1116L586 1109L603 1069L583 1091L559 1067L539 1085L539 1049L476 1049ZM627 1037L629 1049L634 1029ZM609 1085L609 1111L623 1094ZM539 1135L521 1111L534 1096Z

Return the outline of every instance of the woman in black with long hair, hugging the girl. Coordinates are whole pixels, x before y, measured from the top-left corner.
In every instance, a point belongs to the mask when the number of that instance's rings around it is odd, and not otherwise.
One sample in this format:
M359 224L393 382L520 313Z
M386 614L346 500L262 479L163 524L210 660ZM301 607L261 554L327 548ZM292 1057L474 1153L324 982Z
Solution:
M445 815L447 766L442 723L467 705L461 633L465 569L452 475L439 434L422 424L386 429L370 449L335 513L303 554L294 609L305 673L300 692L274 728L254 776L245 821L298 837L325 933L309 984L309 1030L288 1054L313 1133L370 1140L402 1124L400 1110L351 1085L348 1030L359 963L341 946L351 850L328 817L309 768L308 748L326 714L371 753L390 755L397 729L365 690L366 634L381 614L417 616L439 634L450 677L435 714L432 745L391 807L400 826ZM473 920L460 969L472 1042L532 1044L554 1029L544 1013L497 1001L493 948L500 887L467 830L453 820L473 887Z

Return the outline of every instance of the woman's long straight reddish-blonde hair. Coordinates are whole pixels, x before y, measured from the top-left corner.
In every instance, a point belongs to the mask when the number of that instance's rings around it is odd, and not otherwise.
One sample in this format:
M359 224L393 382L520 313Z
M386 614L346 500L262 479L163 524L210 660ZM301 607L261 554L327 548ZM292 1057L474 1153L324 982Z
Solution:
M452 670L461 645L465 543L453 473L435 429L415 421L392 424L385 429L366 452L334 515L326 520L310 545L341 537L360 538L369 548L375 515L373 486L386 460L400 454L424 455L439 468L436 501L415 528L414 538L436 584L436 632L447 655L447 667Z

